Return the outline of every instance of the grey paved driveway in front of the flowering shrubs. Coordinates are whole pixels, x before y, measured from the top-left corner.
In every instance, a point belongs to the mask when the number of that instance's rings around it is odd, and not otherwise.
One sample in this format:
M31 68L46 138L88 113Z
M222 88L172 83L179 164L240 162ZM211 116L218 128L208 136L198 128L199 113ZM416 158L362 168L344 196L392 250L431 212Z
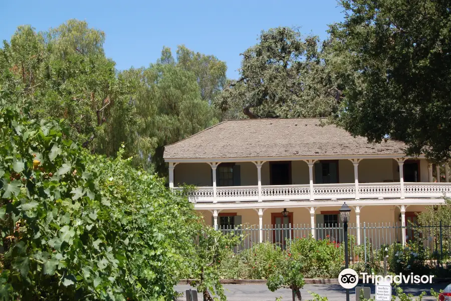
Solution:
M228 301L274 301L276 297L282 296L284 301L291 301L292 295L290 289L279 289L276 292L268 290L266 284L224 284L225 295L227 295ZM371 287L371 296L374 294L374 285L369 285ZM442 284L428 284L428 285L402 285L404 292L412 293L414 296L419 295L422 291L426 291L429 294L430 287L435 291L443 289L446 287L446 283ZM186 289L192 288L187 284L176 285L175 289L178 292L185 292ZM306 284L301 290L302 299L310 300L311 295L308 291L313 291L321 296L327 296L329 301L344 301L346 300L346 290L342 288L339 284ZM355 290L351 290L350 300L355 300ZM200 297L200 295L199 295ZM186 300L186 297L180 297L177 300ZM430 295L423 298L423 301L436 301ZM198 299L201 301L201 298Z

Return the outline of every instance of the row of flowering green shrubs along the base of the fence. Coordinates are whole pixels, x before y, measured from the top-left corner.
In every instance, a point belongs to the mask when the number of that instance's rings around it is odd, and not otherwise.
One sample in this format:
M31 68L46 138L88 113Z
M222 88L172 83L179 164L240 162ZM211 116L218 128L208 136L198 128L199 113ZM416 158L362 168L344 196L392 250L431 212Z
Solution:
M364 263L364 246L355 244L355 238L349 237L354 257L360 261L351 261L350 267L359 271L380 272L382 257L377 251L367 247L367 262ZM220 277L227 279L268 279L280 270L287 260L301 262L300 272L306 278L336 278L344 266L344 244L329 238L317 240L313 237L295 238L288 242L287 250L282 250L271 242L257 244L250 249L224 255L220 265ZM352 259L352 258L351 258Z

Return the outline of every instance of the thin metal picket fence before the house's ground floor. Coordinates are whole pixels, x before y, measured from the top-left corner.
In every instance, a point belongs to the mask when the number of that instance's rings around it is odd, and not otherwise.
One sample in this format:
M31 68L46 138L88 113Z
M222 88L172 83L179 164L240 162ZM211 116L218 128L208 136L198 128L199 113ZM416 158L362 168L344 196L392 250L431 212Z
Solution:
M329 240L337 247L340 247L344 241L342 224L317 224L314 228L307 224L264 225L262 228L256 225L240 225L239 227L221 227L218 231L224 234L234 232L240 235L240 243L234 248L236 252L250 249L264 242L271 242L286 249L293 240L309 237ZM430 264L450 262L451 258L451 225L441 223L427 226L402 226L400 223L348 224L348 239L351 261L382 261L393 244L397 244L398 247L400 245L420 247Z

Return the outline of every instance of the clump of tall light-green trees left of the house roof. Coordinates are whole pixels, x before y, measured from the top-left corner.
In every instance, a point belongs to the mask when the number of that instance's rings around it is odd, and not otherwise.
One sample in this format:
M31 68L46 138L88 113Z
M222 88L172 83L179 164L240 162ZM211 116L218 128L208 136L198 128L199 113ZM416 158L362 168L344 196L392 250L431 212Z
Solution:
M117 71L105 33L69 20L47 32L18 28L0 49L0 85L35 118L64 119L68 137L114 157L122 143L133 163L165 175L163 146L213 125L211 106L227 66L212 55L163 48L148 68Z

